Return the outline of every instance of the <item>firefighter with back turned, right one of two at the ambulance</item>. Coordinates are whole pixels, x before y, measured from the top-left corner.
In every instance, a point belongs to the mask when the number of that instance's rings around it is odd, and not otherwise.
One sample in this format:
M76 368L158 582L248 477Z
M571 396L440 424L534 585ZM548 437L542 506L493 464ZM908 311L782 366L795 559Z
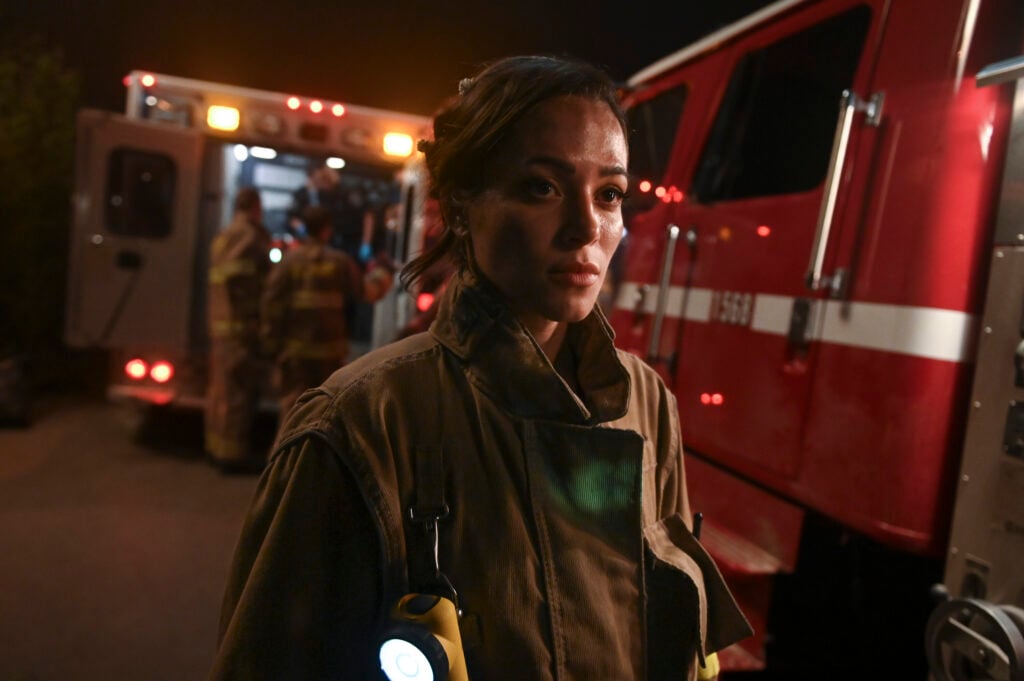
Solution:
M324 382L348 355L348 320L357 302L373 303L391 288L391 267L362 269L329 245L331 213L303 212L306 240L289 251L267 280L262 301L263 348L276 364L282 420L308 388Z

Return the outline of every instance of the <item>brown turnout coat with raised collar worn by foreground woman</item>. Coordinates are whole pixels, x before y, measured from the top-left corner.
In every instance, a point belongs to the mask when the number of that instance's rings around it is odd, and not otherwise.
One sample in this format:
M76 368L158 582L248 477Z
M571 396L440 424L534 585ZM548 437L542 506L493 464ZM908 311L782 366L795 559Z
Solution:
M381 628L433 560L410 510L438 503L473 681L693 679L749 635L690 533L675 398L598 308L564 351L578 392L467 274L429 332L307 391L246 520L211 678L380 678Z

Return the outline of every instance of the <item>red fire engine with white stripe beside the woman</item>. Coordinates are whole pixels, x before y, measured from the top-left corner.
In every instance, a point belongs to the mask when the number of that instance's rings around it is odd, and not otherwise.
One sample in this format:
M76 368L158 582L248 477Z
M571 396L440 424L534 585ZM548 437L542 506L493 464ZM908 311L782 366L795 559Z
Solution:
M781 0L624 88L616 343L678 397L728 672L1024 678L1017 0Z

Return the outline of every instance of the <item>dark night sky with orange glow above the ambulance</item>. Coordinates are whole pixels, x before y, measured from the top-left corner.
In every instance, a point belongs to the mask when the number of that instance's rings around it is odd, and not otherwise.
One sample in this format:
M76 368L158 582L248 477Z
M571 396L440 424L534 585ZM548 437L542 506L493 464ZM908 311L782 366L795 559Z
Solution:
M429 115L483 60L568 54L625 80L768 0L656 4L0 0L0 39L59 47L90 107L123 108L143 69Z

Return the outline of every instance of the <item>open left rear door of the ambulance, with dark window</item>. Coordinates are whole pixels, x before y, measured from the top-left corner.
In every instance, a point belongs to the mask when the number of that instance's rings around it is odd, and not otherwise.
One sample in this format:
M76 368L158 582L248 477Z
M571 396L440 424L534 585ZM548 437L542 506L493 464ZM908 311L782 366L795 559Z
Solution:
M202 142L195 130L80 112L70 345L186 347Z

